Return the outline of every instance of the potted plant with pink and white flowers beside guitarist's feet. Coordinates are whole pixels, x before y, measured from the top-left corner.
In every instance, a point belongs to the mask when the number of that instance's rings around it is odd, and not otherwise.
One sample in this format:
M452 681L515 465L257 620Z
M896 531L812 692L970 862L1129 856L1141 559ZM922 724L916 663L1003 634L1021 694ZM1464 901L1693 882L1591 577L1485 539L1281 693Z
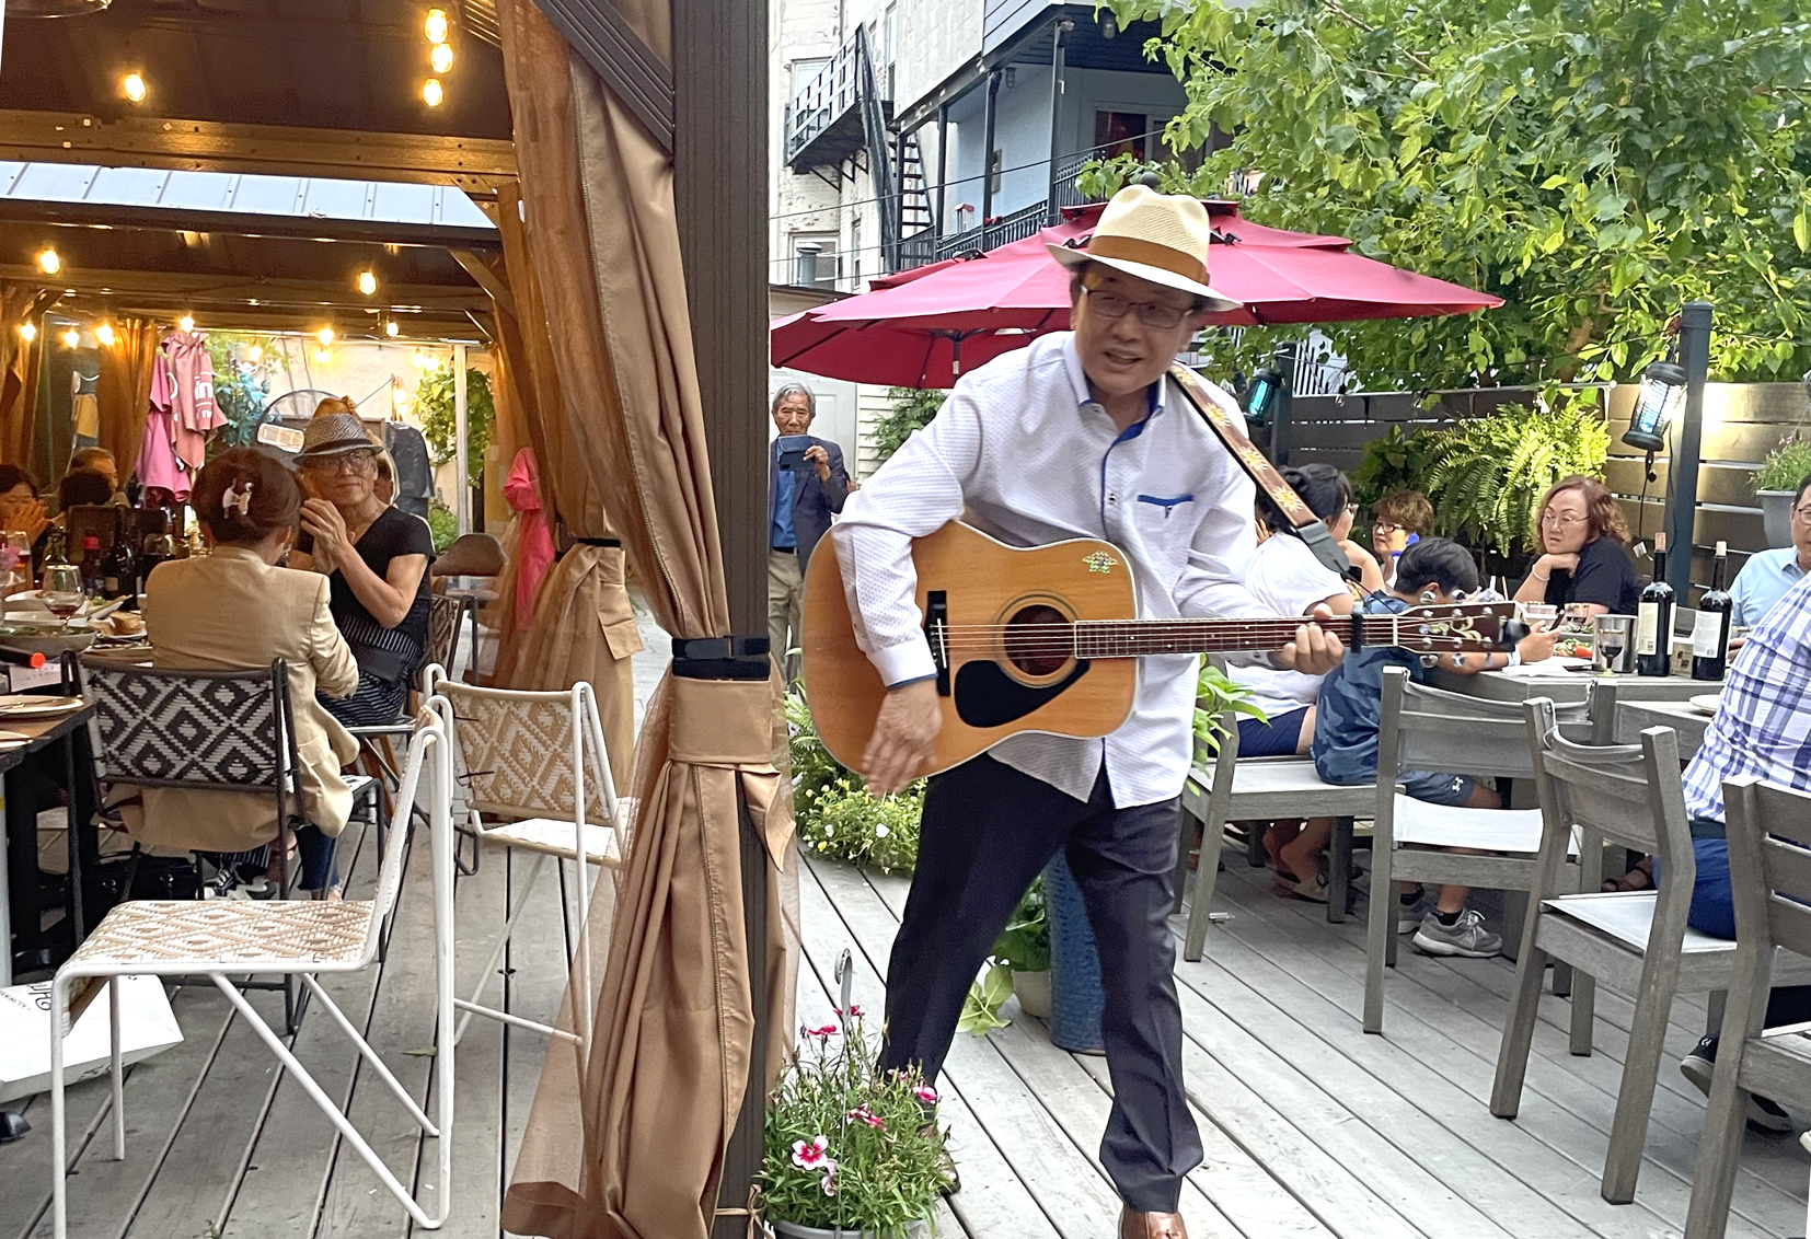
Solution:
M936 1092L875 1071L860 1007L840 1020L800 1029L768 1105L761 1212L782 1239L920 1239L951 1167Z

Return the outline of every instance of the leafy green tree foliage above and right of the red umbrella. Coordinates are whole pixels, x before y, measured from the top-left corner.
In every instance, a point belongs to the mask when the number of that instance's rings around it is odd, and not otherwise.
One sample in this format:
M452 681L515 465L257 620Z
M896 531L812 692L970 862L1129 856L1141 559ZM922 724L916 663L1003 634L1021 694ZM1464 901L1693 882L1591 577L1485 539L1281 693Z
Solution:
M1324 328L1371 386L1626 379L1682 301L1713 373L1811 364L1802 0L1108 0L1188 92L1168 188L1262 172L1244 214L1481 288L1481 315ZM1101 168L1112 188L1128 161ZM1279 330L1248 331L1242 364ZM1298 331L1297 331L1298 333ZM1231 362L1233 357L1215 359Z

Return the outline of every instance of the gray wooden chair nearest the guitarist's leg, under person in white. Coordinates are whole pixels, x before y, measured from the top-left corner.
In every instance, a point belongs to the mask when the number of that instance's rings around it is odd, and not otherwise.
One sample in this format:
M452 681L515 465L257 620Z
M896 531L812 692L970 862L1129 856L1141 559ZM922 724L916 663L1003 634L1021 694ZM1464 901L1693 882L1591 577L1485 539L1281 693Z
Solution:
M1273 821L1279 817L1331 817L1333 840L1327 844L1327 920L1346 920L1346 891L1351 886L1351 828L1353 817L1371 812L1375 792L1360 784L1342 788L1315 773L1308 757L1246 757L1239 759L1239 719L1228 712L1222 719L1219 750L1212 761L1197 752L1195 768L1183 784L1183 839L1177 848L1175 889L1177 908L1188 877L1188 850L1193 828L1201 826L1201 857L1195 860L1195 882L1190 893L1188 931L1183 936L1183 958L1199 960L1208 940L1208 904L1221 868L1221 850L1226 822Z

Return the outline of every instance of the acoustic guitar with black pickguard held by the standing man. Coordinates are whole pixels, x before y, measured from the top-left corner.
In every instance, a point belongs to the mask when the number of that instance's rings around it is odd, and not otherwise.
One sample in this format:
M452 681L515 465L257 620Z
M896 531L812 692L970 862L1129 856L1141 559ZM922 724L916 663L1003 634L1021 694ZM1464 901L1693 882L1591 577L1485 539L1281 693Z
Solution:
M915 540L913 563L944 708L925 773L1020 732L1114 732L1132 712L1137 658L1146 654L1277 650L1302 623L1337 632L1349 648L1391 645L1418 654L1505 650L1525 634L1514 603L1324 621L1139 620L1132 567L1117 547L1094 538L1009 547L958 522ZM858 768L887 688L855 643L829 536L811 552L804 581L804 685L824 748Z

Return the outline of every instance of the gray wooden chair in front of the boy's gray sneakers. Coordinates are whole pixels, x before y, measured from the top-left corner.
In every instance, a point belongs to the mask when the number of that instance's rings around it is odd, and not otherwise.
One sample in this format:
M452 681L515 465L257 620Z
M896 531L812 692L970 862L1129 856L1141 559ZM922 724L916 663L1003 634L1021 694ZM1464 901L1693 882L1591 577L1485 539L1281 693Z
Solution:
M1605 681L1590 687L1586 701L1557 706L1557 723L1576 739L1594 728L1605 737L1615 725L1615 694ZM1384 1031L1384 969L1396 965L1396 882L1483 886L1527 891L1534 886L1539 850L1539 813L1528 822L1525 853L1465 855L1431 848L1404 848L1396 840L1396 779L1404 770L1438 770L1494 779L1534 777L1527 723L1521 706L1443 692L1409 681L1402 667L1384 670L1378 719L1375 819L1371 833L1371 908L1365 935L1364 1031ZM1514 810L1503 810L1514 812ZM1442 840L1422 840L1440 846ZM1586 846L1581 879L1595 889L1603 879L1603 848ZM1572 889L1577 889L1574 882ZM1574 996L1576 1000L1576 996Z

